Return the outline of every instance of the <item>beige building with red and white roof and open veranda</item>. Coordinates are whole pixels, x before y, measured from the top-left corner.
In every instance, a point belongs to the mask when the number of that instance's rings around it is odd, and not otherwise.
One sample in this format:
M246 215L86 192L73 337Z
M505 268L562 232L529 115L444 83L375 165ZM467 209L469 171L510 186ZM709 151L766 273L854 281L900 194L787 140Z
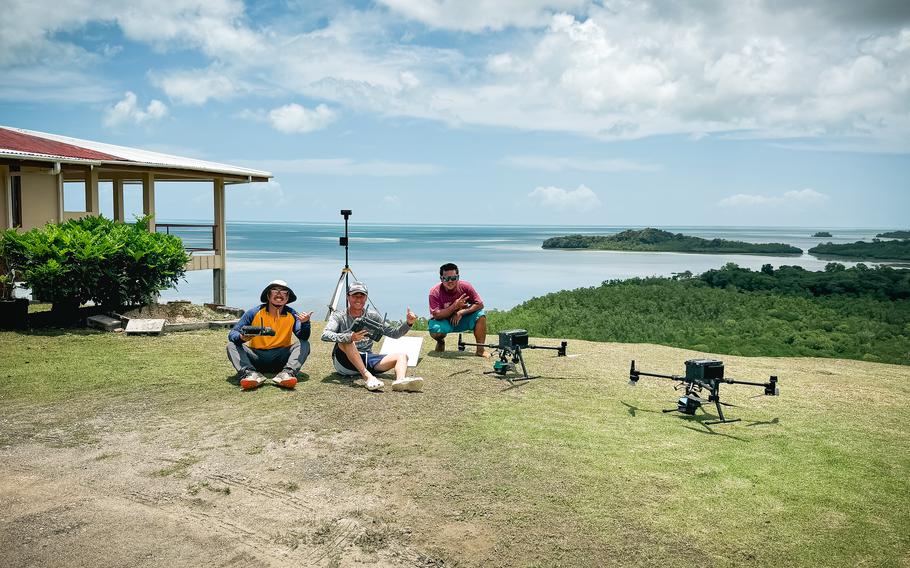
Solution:
M192 253L187 269L212 270L214 301L223 304L227 294L225 185L265 182L271 177L260 170L0 126L0 230L28 230L100 215L100 182L113 193L114 219L125 221L123 187L139 184L142 212L152 216L150 230L183 238ZM155 184L173 181L211 184L212 225L154 222ZM64 183L84 186L84 211L64 209Z

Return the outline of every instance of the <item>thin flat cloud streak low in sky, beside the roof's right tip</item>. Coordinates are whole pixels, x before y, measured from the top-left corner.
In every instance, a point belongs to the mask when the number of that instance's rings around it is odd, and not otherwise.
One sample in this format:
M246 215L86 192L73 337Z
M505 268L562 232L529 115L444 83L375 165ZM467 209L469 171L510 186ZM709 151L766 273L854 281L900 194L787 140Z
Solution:
M326 176L412 177L441 173L434 164L386 162L383 160L357 161L350 158L311 158L296 160L261 160L250 167L285 174Z

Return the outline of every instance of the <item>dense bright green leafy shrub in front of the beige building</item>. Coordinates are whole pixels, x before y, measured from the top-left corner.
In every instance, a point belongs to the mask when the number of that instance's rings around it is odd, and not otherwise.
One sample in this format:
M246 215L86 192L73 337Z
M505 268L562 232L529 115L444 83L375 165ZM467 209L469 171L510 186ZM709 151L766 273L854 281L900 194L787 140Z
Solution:
M177 284L189 257L179 238L150 233L148 217L126 224L83 217L0 235L0 252L35 296L72 311L143 305Z

